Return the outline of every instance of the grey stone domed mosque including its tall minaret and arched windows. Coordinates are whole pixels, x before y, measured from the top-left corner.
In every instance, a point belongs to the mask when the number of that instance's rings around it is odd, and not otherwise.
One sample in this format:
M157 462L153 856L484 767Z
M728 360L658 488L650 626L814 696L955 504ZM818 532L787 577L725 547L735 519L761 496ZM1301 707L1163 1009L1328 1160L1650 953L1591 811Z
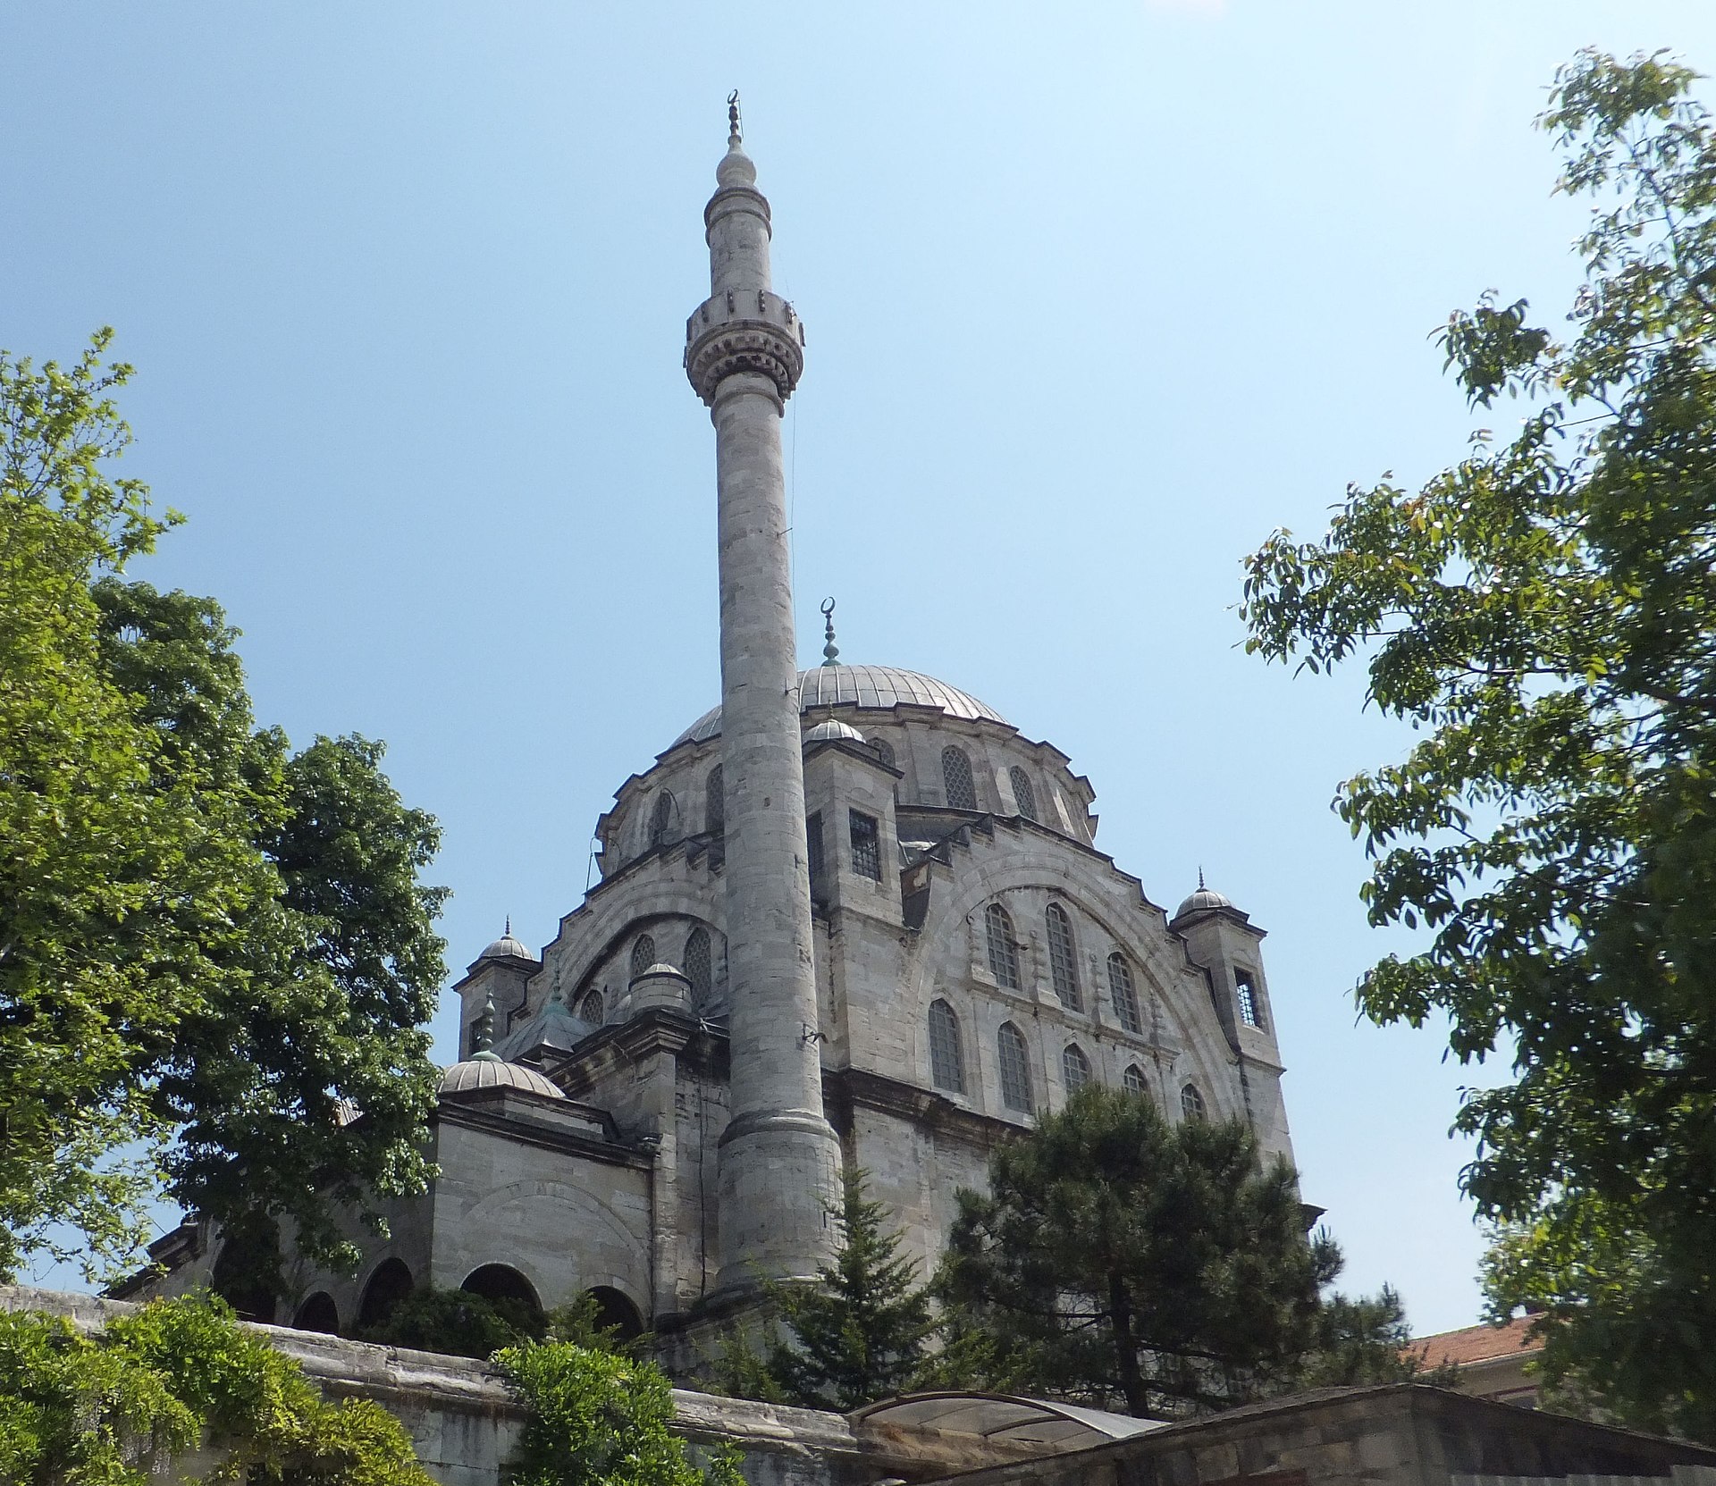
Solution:
M456 983L439 1177L355 1275L273 1320L353 1333L414 1285L594 1292L685 1373L760 1280L829 1256L843 1165L930 1268L959 1187L1086 1083L1244 1117L1292 1160L1263 932L1199 880L1169 915L1097 844L1066 753L915 671L796 669L781 415L803 323L770 287L736 110L685 369L716 427L721 705L597 822L601 882L541 952ZM688 709L690 710L690 709ZM218 1237L158 1246L184 1289ZM266 1320L266 1316L264 1316Z

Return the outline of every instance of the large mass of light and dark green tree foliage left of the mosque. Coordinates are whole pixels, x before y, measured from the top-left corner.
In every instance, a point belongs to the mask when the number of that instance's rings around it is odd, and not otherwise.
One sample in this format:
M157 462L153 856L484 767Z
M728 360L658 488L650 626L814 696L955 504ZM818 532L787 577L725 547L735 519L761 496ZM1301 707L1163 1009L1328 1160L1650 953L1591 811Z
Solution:
M173 518L108 465L101 367L0 355L0 1273L125 1258L165 1191L269 1282L278 1234L417 1191L438 831L381 745L259 729L209 599L122 575ZM357 1112L357 1119L353 1119Z

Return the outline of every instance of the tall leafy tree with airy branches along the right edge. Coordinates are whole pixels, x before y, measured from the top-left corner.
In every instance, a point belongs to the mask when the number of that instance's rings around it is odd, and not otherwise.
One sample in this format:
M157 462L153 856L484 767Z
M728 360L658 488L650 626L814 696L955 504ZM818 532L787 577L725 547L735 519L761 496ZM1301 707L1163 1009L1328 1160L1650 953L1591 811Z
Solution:
M1716 136L1661 53L1562 69L1539 120L1596 197L1563 335L1486 295L1440 333L1469 403L1526 407L1416 492L1354 487L1249 561L1248 649L1368 666L1424 738L1335 808L1373 925L1424 947L1359 983L1445 1016L1462 1175L1503 1241L1498 1316L1544 1373L1716 1440Z

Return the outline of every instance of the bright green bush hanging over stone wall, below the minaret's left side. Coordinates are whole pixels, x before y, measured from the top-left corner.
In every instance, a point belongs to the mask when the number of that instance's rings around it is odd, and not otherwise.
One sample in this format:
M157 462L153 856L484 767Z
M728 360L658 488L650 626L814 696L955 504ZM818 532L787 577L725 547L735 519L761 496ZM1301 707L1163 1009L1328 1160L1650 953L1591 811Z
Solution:
M733 1450L692 1462L652 1362L571 1342L523 1342L494 1362L529 1409L513 1486L743 1486Z

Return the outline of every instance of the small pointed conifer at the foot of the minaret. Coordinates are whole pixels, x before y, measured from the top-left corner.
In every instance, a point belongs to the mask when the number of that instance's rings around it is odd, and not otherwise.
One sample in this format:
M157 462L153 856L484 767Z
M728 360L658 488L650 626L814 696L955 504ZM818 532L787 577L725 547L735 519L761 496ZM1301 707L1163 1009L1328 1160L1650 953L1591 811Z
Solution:
M937 1325L863 1170L844 1170L831 1217L839 1246L817 1282L776 1287L791 1344L770 1349L769 1374L789 1404L846 1412L911 1388Z

